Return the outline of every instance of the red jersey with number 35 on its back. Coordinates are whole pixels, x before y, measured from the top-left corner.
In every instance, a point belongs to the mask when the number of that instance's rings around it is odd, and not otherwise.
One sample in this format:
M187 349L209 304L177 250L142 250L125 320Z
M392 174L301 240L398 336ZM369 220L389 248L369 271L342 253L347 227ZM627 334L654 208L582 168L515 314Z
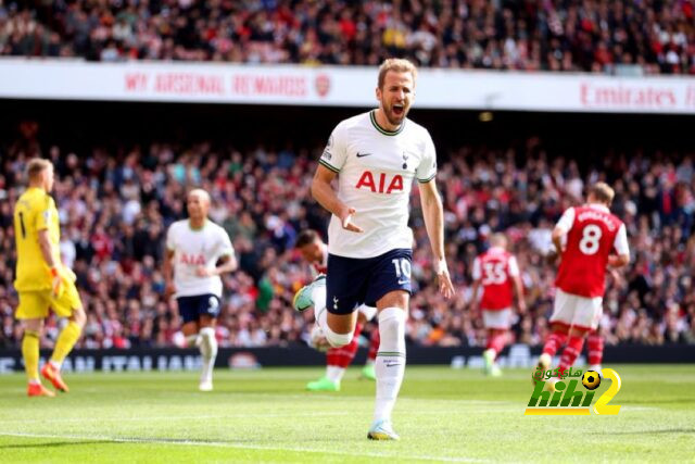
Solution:
M508 251L493 247L473 261L473 279L482 285L480 309L484 311L511 308L513 277L519 275L517 260Z

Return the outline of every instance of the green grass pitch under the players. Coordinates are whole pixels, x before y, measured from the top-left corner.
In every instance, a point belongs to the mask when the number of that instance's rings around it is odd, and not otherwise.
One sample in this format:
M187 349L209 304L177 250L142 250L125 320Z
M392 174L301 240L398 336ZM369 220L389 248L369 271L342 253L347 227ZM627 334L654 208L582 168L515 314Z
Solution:
M399 442L367 440L375 387L356 368L340 393L304 391L319 368L217 371L211 393L194 373L74 374L54 399L2 376L0 462L693 462L695 366L609 367L620 414L571 417L523 415L529 369L408 367Z

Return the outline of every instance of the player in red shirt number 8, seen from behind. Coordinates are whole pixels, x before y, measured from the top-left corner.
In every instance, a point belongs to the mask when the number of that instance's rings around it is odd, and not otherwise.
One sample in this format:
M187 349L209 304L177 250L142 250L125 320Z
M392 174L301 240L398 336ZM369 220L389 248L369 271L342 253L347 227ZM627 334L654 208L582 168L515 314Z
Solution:
M560 372L574 363L584 337L596 329L603 313L606 268L618 268L630 262L626 226L609 210L614 196L607 184L595 184L589 191L586 204L565 211L553 230L560 264L549 321L552 331L539 359L539 366L544 371L565 342Z

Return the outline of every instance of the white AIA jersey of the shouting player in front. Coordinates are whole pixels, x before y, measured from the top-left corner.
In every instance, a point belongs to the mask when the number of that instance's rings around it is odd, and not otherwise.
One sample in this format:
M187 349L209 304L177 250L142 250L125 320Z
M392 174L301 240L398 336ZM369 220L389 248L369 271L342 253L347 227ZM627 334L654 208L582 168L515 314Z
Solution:
M413 248L408 227L413 179L437 175L437 153L427 129L404 120L395 131L379 127L375 111L342 121L328 140L319 163L339 173L338 198L357 210L352 218L364 229L342 228L332 216L328 251L345 258L374 258L397 248Z

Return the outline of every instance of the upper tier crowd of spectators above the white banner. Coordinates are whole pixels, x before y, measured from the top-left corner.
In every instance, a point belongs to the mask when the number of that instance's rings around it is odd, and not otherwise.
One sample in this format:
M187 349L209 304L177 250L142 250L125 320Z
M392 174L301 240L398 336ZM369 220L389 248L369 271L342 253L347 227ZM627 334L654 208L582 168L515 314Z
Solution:
M693 0L0 1L0 55L695 74Z

